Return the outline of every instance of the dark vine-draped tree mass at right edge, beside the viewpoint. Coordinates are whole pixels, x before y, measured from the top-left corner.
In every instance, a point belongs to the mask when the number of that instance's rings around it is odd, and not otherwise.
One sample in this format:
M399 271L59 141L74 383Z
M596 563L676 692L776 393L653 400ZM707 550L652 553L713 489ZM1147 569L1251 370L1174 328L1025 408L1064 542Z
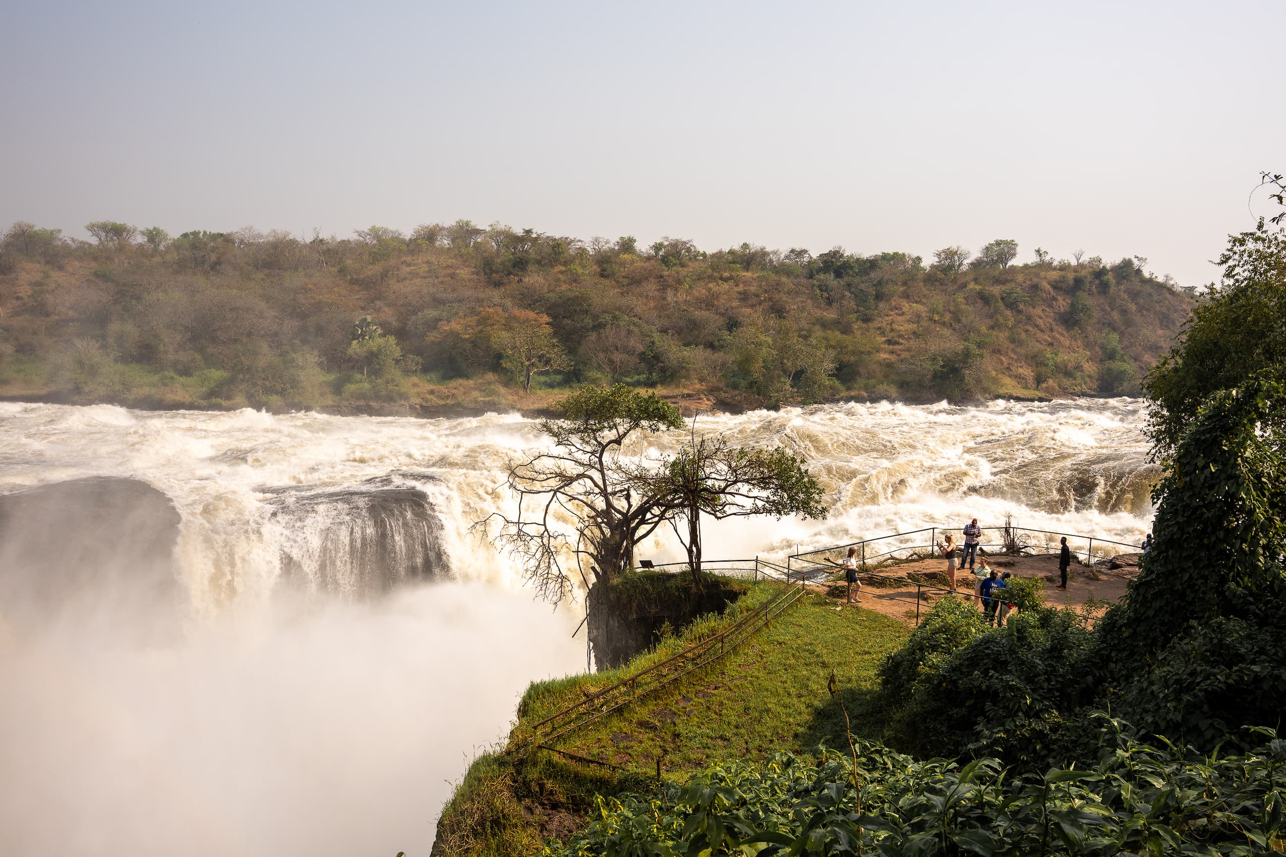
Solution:
M1168 463L1152 495L1152 550L1129 599L1103 618L1101 662L1138 726L1210 747L1286 714L1280 369L1211 394Z

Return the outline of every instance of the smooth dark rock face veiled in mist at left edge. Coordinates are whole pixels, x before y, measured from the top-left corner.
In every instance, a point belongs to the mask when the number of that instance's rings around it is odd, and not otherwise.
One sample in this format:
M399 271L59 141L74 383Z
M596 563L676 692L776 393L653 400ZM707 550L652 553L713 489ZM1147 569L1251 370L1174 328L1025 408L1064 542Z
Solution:
M177 615L179 513L138 479L90 478L0 496L0 613L19 624Z

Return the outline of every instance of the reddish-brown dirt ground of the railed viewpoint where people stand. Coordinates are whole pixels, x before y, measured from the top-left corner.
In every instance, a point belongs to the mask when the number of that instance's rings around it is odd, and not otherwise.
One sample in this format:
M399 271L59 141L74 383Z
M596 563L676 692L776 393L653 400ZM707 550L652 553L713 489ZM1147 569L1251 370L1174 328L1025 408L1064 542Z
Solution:
M1109 568L1106 563L1100 563L1094 568L1074 564L1067 573L1067 590L1060 592L1058 586L1058 558L1053 554L1038 556L988 556L988 563L999 572L1011 572L1015 577L1039 577L1044 579L1046 604L1049 606L1064 606L1080 609L1087 601L1115 601L1125 595L1127 583L1138 573L1138 568L1127 565L1123 568ZM944 586L946 563L941 559L922 559L881 569L878 574L887 577L865 576L862 587L860 606L874 610L885 615L891 615L908 622L916 622L916 577L922 577L926 586L921 587L923 597L919 604L919 615L923 615L935 600L943 595L941 588L932 588L928 585ZM940 577L939 577L940 574ZM891 581L892 578L905 578L904 583ZM955 585L964 592L972 592L976 578L968 569L955 573ZM826 594L837 606L844 606L844 591L832 590L833 585L819 585L809 588ZM838 591L838 596L831 595ZM1100 608L1096 613L1101 613Z

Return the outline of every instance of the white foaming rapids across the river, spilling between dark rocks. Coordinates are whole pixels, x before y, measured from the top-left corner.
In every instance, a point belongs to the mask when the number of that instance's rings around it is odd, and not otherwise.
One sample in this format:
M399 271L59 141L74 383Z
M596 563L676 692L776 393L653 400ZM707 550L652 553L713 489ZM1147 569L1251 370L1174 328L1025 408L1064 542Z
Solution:
M705 415L697 427L739 445L784 443L827 490L826 522L712 527L720 541L736 529L728 550L754 555L914 526L958 527L971 517L998 524L1007 511L1028 527L1138 541L1155 478L1142 420L1142 402L1118 398L967 409L846 403ZM626 452L652 457L683 438L638 438ZM275 585L280 533L266 491L354 487L397 473L432 477L415 487L442 515L457 577L520 586L520 570L469 526L512 504L508 463L544 446L535 423L514 414L418 420L10 403L0 410L0 490L80 475L149 482L183 517L184 578L195 612L208 614L229 595L266 597ZM678 555L664 533L646 547Z

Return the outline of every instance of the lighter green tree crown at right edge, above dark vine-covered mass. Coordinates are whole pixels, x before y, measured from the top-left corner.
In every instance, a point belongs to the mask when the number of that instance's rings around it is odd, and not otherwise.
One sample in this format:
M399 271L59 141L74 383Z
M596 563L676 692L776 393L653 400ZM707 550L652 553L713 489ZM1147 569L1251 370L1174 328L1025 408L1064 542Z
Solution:
M1148 432L1161 457L1208 396L1286 364L1286 230L1260 220L1253 231L1229 235L1219 265L1223 283L1192 310L1143 384Z

